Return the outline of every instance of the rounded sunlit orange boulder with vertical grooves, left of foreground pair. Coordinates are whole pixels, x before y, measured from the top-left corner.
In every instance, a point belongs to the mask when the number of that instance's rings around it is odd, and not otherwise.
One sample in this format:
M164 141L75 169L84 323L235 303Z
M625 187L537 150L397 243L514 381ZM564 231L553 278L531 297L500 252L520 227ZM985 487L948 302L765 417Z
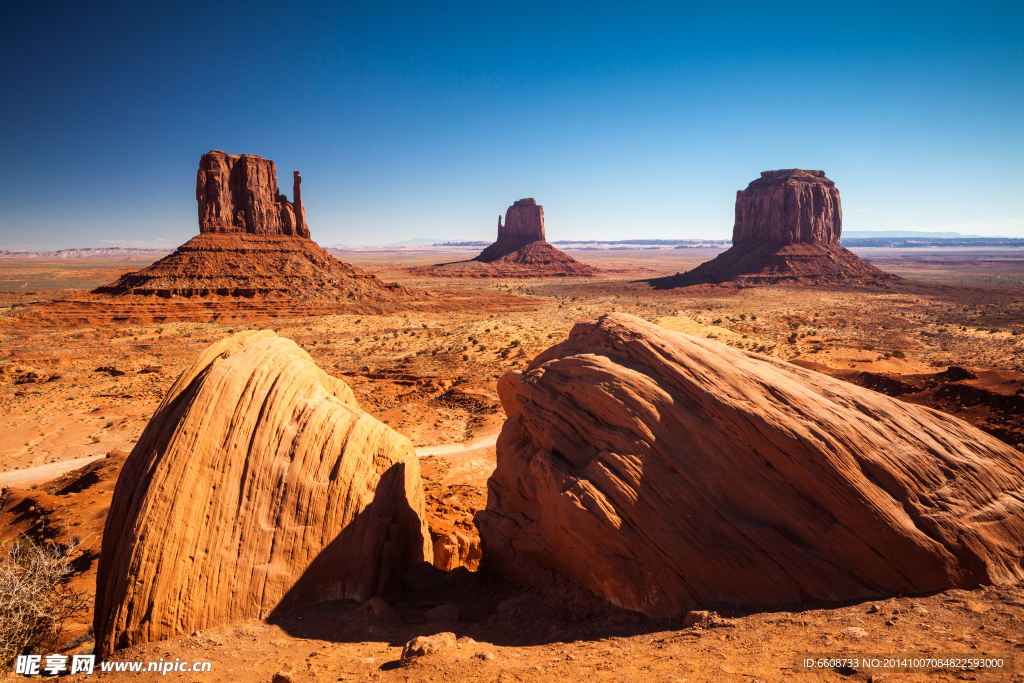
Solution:
M100 656L388 591L432 558L408 438L272 332L203 351L125 463L103 531Z

